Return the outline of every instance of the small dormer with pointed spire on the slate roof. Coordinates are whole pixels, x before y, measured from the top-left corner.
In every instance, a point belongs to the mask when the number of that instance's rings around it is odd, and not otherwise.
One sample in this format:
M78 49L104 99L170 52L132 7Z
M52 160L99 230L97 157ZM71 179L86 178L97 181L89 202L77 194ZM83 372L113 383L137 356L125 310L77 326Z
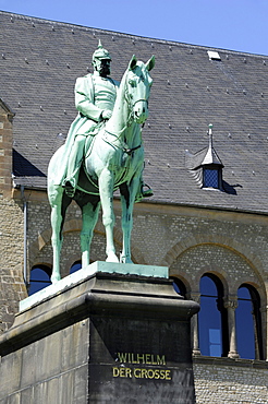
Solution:
M208 147L200 150L196 154L191 154L186 151L185 165L199 188L219 189L222 191L223 164L212 146L212 124L209 124L208 128Z

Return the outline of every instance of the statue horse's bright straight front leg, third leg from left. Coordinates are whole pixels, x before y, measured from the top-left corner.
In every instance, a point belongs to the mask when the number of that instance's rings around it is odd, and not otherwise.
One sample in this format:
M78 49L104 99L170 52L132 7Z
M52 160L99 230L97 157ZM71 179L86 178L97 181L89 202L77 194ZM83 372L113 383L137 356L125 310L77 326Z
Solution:
M99 176L99 194L102 206L102 223L106 228L107 262L119 262L113 243L113 174L103 169Z

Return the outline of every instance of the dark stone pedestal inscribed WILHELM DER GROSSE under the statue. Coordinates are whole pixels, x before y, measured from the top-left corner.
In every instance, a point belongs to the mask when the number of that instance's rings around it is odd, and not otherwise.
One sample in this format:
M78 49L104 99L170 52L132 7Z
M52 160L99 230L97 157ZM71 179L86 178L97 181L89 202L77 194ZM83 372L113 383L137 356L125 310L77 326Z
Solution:
M0 337L0 404L195 402L190 319L198 305L159 273L106 265L22 305Z

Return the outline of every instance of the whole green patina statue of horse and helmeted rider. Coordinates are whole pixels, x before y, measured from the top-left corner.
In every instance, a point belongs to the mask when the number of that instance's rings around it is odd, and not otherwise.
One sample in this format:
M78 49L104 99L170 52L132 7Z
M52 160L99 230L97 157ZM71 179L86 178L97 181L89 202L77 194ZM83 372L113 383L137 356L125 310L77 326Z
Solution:
M78 110L65 144L52 156L48 168L53 247L52 282L60 276L62 226L72 199L82 209L82 268L89 264L89 247L100 203L106 227L107 261L119 262L113 245L112 195L120 189L123 250L121 262L131 260L131 229L134 202L151 195L142 180L144 150L141 124L148 117L153 80L147 63L132 57L122 82L110 79L110 55L99 43L93 55L94 74L80 78L75 85Z

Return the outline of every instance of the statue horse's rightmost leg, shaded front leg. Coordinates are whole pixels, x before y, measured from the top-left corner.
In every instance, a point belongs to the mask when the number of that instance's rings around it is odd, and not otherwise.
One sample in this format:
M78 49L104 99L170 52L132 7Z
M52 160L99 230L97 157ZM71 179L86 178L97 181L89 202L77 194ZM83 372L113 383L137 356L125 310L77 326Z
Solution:
M122 231L123 231L123 249L120 257L122 263L133 263L131 259L131 233L133 227L133 209L137 189L141 186L141 178L132 179L131 185L120 187L121 205L122 205Z

